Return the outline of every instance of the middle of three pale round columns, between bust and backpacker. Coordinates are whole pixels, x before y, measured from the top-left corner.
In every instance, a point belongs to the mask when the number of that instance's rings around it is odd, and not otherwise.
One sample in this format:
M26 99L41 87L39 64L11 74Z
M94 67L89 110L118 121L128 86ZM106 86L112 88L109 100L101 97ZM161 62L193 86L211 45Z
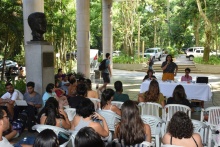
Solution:
M76 1L77 72L90 77L89 0Z

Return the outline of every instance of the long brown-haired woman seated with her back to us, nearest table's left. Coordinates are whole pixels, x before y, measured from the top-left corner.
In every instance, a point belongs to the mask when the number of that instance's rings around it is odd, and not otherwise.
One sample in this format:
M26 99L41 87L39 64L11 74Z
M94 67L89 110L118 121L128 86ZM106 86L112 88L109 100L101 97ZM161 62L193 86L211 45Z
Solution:
M165 106L165 99L162 93L160 93L159 83L156 80L150 82L148 91L140 93L138 95L138 102L156 102Z

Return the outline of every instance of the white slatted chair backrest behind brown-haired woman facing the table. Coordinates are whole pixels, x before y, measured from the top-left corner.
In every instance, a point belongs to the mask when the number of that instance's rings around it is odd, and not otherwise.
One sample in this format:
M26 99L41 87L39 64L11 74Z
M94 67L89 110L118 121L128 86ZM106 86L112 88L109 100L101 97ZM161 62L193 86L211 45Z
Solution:
M138 106L140 106L141 115L153 115L157 117L160 117L160 110L162 111L163 109L160 104L153 102L141 102Z

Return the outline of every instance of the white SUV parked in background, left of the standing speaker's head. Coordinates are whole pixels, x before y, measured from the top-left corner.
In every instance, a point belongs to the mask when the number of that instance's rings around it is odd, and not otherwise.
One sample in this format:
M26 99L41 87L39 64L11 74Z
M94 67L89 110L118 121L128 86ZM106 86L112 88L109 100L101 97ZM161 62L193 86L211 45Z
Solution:
M163 52L161 48L149 48L146 49L144 52L144 57L147 56L153 56L153 59L158 59L160 61L160 58L163 56Z

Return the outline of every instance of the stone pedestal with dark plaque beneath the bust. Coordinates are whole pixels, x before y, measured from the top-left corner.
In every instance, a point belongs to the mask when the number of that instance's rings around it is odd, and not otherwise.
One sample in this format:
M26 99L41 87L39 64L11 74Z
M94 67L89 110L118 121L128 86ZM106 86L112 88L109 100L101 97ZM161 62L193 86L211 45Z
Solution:
M43 94L54 83L54 49L48 42L30 41L25 45L27 82L35 82L35 91Z

